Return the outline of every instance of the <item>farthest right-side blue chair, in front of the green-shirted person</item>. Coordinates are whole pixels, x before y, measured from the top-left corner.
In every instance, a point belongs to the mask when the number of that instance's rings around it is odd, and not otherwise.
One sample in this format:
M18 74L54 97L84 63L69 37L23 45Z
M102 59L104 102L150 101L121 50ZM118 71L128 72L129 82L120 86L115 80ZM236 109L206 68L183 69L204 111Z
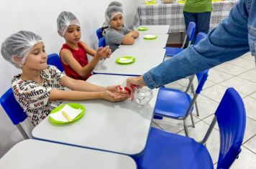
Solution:
M165 47L166 49L165 55L168 57L173 57L174 55L182 52L184 50L187 39L189 39L188 46L190 46L193 40L193 37L195 35L195 32L196 32L196 23L191 21L188 24L188 29L186 31L186 36L184 38L182 47Z

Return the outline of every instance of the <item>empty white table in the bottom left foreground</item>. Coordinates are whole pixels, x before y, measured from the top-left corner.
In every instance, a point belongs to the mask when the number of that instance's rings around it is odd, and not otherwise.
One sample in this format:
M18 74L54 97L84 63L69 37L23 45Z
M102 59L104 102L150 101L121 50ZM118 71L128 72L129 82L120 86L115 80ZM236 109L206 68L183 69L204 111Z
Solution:
M0 159L1 169L137 168L127 155L76 148L39 140L24 140Z

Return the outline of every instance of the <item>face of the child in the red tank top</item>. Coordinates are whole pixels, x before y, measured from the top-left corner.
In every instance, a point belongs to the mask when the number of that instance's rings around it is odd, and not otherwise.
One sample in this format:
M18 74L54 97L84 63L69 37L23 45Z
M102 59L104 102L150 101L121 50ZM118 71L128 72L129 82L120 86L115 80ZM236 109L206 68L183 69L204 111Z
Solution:
M64 38L67 42L72 44L78 44L81 39L81 28L78 25L68 26L67 31L64 34Z

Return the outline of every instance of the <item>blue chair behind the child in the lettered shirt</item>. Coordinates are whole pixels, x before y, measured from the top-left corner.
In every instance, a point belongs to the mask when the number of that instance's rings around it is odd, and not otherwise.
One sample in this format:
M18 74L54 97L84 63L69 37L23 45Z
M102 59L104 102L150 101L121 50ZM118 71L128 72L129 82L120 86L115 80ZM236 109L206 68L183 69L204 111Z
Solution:
M27 114L20 107L19 103L15 100L12 88L9 88L4 95L0 98L1 106L4 108L4 111L9 116L12 123L17 126L19 132L25 139L29 139L29 136L24 131L20 122L23 122L27 118Z

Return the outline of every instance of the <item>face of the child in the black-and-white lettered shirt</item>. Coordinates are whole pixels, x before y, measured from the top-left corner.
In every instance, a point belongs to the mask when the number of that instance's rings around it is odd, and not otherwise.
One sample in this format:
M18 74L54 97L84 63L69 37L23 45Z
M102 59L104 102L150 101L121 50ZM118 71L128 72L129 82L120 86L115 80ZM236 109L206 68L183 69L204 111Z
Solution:
M23 67L34 70L47 68L47 54L45 53L45 46L42 42L32 47Z

